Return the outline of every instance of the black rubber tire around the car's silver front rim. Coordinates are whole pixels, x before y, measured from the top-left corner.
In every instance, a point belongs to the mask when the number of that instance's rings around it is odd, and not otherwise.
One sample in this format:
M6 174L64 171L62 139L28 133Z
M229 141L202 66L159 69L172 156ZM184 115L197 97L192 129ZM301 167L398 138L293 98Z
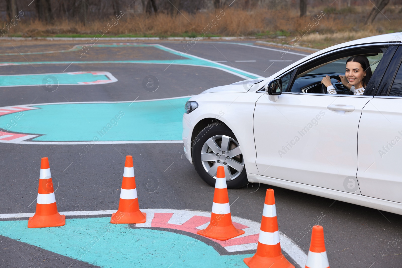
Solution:
M228 136L228 137L232 138L234 141L236 141L236 143L237 143L236 136L233 134L233 132L230 130L230 128L222 122L219 122L219 123L215 122L215 123L207 125L207 127L205 127L203 130L201 130L201 132L197 135L197 137L195 137L195 139L192 141L193 149L192 149L191 156L193 158L194 168L197 171L197 173L199 174L199 176L207 184L209 184L211 186L215 186L215 178L214 178L214 176L211 176L210 174L208 174L204 165L206 165L205 163L207 163L211 167L211 166L213 166L213 163L215 163L216 161L215 162L213 162L213 161L211 161L211 162L204 161L203 162L201 160L201 151L203 150L203 148L205 149L204 145L210 138L214 138L219 135ZM222 145L222 139L221 139L221 143L220 144L218 144L218 143L219 143L219 138L217 139L216 144L218 145L218 148L220 149L219 146ZM234 146L236 147L236 143L234 143L232 140L230 140L228 148L230 149L231 147L232 148ZM208 145L205 145L205 146L209 148ZM229 150L229 153L230 153L230 150ZM213 153L212 149L211 149L211 153ZM221 156L223 156L223 154L221 154ZM242 154L237 155L237 156L231 158L230 160L236 160L236 162L242 163L244 166L244 160L243 160ZM229 160L225 160L225 161L228 161L228 163L229 163ZM234 162L231 161L230 163L234 163ZM222 164L222 166L224 166L224 165ZM239 172L238 170L235 170L229 166L230 166L230 164L228 164L228 166L225 165L226 178L228 178L228 174L226 174L228 172L227 170L229 170L229 172L231 172L231 174L232 174L232 172L234 172L235 175L233 176L234 178L232 180L226 180L226 184L227 184L228 188L229 189L238 189L238 188L242 188L242 187L246 186L246 184L248 183L246 167L244 166L242 171Z

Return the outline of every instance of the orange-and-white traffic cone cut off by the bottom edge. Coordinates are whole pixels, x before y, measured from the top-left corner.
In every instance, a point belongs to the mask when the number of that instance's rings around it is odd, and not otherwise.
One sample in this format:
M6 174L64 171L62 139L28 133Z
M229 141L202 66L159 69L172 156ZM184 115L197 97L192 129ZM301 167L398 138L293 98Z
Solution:
M306 268L329 268L324 244L324 228L320 225L314 225L311 232Z

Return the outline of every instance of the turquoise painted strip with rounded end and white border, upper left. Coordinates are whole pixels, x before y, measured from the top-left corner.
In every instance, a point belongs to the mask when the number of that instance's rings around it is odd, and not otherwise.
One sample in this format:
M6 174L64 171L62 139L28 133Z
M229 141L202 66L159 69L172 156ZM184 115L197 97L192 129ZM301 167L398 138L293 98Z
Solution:
M1 75L0 87L51 85L94 85L116 82L109 72L69 72L57 74Z

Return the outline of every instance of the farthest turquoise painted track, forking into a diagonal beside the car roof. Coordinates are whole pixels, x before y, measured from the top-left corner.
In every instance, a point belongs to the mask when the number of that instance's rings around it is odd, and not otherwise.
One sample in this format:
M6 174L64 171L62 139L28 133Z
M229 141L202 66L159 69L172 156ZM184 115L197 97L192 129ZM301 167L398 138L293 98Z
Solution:
M161 49L163 51L166 51L168 53L172 53L174 55L179 55L180 57L183 57L184 59L176 59L176 60L142 60L142 61L132 61L132 60L126 60L126 61L74 61L72 64L100 64L100 63L146 63L146 64L174 64L174 65L193 65L193 66L201 66L201 67L208 67L208 68L215 68L218 70L222 70L224 72L228 72L230 74L234 74L236 76L239 76L243 79L255 79L255 78L263 78L263 76L259 76L258 74L253 74L250 72L246 72L244 70L240 70L234 67L230 67L229 65L225 65L222 63L217 63L214 61L210 61L208 59L204 59L201 57L197 57L188 53L181 53L180 51L176 51L174 49L170 49L168 47L165 47L163 45L159 44L129 44L129 43L121 43L121 44L100 44L100 45L93 45L93 46L98 46L98 47L116 47L116 46L130 46L130 47L155 47L157 49ZM82 49L82 46L77 46L75 50L80 50ZM67 52L68 50L65 50L63 52ZM73 50L69 50L73 51ZM52 51L53 53L53 51ZM0 66L7 66L7 65L27 65L27 64L38 64L38 65L43 65L43 64L71 64L71 62L68 61L30 61L30 62L0 62Z

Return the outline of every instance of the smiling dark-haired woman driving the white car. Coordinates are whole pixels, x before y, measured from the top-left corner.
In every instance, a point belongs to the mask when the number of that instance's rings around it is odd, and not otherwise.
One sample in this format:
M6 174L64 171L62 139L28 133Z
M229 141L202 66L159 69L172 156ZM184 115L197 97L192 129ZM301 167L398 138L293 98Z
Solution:
M372 76L370 63L365 56L353 56L346 61L345 76L339 76L340 82L354 95L363 95L364 90ZM321 83L327 88L328 94L336 94L336 90L331 83L331 78L325 76Z

